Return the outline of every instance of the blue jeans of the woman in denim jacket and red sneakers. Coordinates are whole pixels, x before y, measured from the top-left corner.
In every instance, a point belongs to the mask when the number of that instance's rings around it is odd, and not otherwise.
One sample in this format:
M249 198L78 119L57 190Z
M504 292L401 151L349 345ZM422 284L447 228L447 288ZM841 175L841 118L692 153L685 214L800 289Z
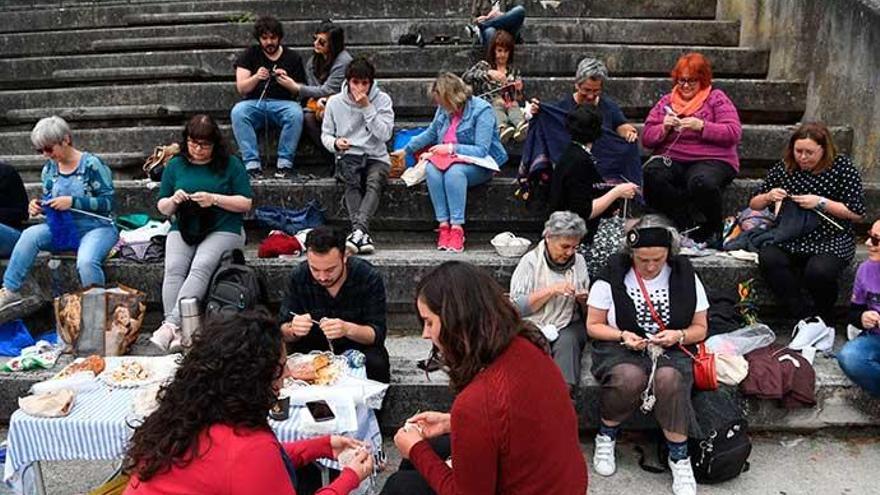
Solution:
M464 209L467 206L467 190L487 182L495 173L476 165L455 164L446 172L437 170L428 162L427 180L434 216L438 222L464 225Z

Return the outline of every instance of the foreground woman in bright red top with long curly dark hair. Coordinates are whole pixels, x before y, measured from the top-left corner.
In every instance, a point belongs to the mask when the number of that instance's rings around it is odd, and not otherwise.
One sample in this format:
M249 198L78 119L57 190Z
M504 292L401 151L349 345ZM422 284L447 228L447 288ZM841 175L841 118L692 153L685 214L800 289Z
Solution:
M305 481L298 468L361 447L340 436L275 438L266 416L288 376L283 349L278 325L265 311L209 321L174 380L160 390L159 408L134 432L124 461L131 475L125 495L296 495L295 485ZM347 494L372 468L372 456L360 450L317 493Z

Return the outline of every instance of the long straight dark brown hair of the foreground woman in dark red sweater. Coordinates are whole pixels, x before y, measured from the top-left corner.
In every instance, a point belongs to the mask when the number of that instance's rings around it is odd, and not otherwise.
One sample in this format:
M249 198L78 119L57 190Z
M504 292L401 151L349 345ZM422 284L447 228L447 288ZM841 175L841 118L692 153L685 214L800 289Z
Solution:
M492 364L517 335L550 352L547 340L520 318L498 282L469 263L447 261L434 269L416 287L416 300L440 317L443 362L456 392Z

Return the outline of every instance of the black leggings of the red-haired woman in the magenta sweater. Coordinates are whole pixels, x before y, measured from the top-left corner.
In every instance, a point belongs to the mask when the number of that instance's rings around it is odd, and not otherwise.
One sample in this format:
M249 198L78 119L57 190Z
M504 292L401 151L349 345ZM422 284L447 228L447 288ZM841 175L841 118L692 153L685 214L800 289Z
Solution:
M718 160L672 161L667 167L656 157L645 165L645 201L680 231L699 227L689 237L703 242L721 232L721 194L734 177L733 167Z

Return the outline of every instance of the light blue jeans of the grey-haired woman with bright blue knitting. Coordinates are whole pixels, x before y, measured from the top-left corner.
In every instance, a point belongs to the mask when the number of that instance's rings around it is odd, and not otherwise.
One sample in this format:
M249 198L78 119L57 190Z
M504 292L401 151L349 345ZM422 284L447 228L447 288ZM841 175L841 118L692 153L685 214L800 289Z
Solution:
M76 270L83 287L104 285L104 258L118 239L119 232L112 225L89 230L82 236L76 251ZM6 273L3 274L3 287L14 292L20 291L37 254L48 251L51 247L52 232L48 225L41 223L24 229L12 250Z

